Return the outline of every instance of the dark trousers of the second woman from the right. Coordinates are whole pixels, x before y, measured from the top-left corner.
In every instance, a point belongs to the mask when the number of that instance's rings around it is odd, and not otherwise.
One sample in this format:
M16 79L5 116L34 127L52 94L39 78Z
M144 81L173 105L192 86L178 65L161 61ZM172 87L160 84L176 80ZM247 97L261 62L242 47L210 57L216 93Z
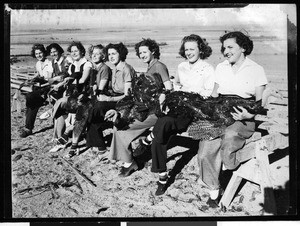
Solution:
M171 136L186 131L191 122L187 117L164 116L159 118L153 128L154 139L151 145L151 171L161 173L167 171L167 145Z

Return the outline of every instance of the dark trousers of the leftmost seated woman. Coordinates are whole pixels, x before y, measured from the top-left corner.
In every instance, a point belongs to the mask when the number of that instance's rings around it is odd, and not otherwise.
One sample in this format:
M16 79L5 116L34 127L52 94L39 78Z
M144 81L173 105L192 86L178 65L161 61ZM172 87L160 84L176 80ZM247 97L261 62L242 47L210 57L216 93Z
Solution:
M33 91L26 95L26 114L25 127L32 130L37 112L43 106L45 99L42 97L40 91Z

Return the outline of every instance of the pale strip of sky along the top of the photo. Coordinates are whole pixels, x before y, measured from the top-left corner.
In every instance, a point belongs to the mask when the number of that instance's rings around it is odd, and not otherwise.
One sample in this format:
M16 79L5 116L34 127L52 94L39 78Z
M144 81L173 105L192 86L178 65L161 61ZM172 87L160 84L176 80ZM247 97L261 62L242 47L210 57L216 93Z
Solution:
M296 22L292 4L250 4L244 8L152 8L152 9L10 9L11 29L95 28L153 25L258 24L269 29L286 25L287 14Z

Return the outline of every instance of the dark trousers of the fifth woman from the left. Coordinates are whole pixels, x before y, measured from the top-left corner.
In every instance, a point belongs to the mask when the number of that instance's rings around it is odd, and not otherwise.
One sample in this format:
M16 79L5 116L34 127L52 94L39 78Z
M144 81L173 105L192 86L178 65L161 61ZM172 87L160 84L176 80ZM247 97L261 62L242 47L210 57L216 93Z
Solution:
M109 123L104 121L104 116L108 110L115 109L116 103L117 102L111 101L96 101L90 112L87 122L87 147L99 147L100 149L106 148L103 130L108 126Z

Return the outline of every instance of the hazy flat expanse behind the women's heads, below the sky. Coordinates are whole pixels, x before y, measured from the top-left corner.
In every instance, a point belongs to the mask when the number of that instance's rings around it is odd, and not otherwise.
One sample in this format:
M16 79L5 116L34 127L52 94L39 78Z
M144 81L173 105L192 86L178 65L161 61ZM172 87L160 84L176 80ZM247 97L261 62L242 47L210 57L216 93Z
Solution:
M129 46L127 62L136 70L143 71L146 65L136 56L134 44L142 38L151 38L158 43L166 42L161 46L161 61L165 63L171 75L174 75L177 65L184 59L178 54L181 39L190 34L198 34L206 38L213 50L207 59L214 67L223 60L220 53L219 37L225 30L222 27L152 27L145 28L118 28L118 29L70 29L70 30L35 30L11 32L11 55L30 54L33 43L43 43L45 46L57 42L65 50L73 40L81 41L88 48L89 45L123 42ZM254 42L254 50L250 58L261 64L267 76L287 76L287 42L284 32L267 31L258 27L249 26L249 35ZM275 35L274 35L275 34Z

